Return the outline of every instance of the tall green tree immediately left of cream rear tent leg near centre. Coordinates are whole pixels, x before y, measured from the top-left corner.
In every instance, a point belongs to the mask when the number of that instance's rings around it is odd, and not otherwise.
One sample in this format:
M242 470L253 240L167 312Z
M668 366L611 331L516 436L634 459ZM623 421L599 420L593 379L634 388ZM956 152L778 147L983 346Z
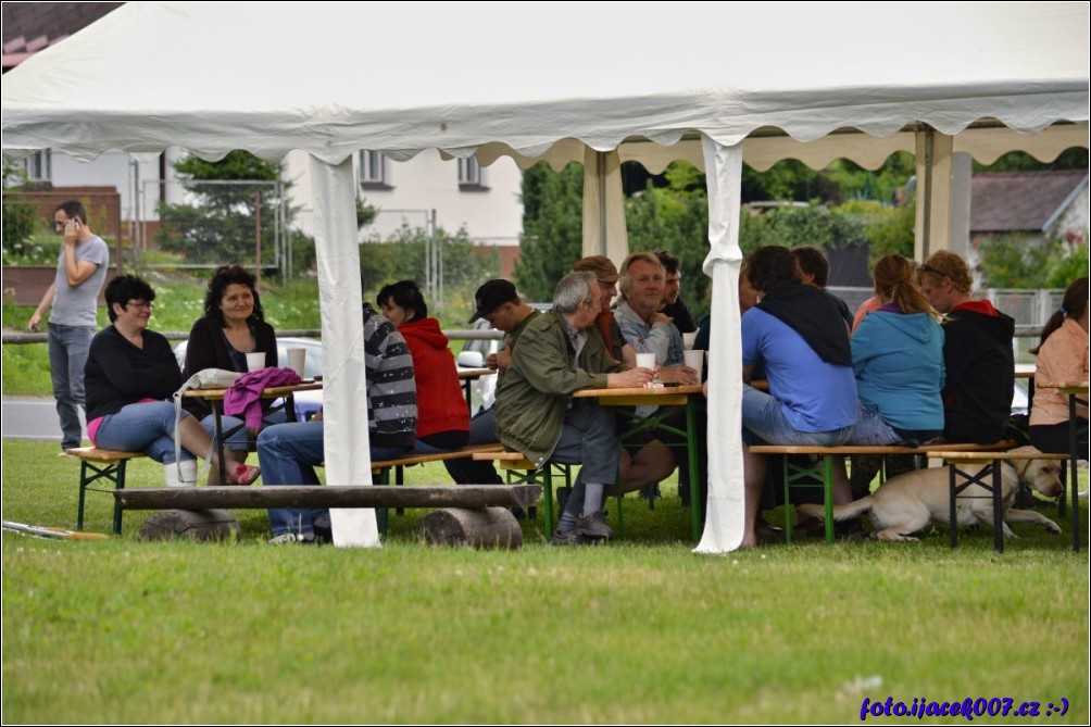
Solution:
M544 162L523 175L523 237L515 283L528 300L552 300L558 281L583 257L584 167L560 174Z

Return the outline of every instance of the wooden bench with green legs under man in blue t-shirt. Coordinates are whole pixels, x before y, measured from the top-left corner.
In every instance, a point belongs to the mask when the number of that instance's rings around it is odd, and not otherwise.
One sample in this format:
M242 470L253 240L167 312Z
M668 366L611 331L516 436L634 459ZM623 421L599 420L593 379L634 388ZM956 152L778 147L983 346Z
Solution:
M834 543L834 457L870 454L875 456L915 455L918 457L937 456L937 452L993 452L1008 450L1016 445L1011 440L1000 440L991 444L927 444L924 446L873 446L852 445L817 446L799 444L754 444L750 448L753 454L805 454L813 457L807 464L796 464L784 457L784 541L792 541L792 513L789 503L791 487L820 487L826 516L826 543ZM820 484L803 481L817 479Z

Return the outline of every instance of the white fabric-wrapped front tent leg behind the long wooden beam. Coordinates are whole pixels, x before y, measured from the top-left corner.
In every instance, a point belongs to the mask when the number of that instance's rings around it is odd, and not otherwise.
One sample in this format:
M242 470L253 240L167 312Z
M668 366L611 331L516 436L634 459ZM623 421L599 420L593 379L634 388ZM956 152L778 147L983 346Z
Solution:
M311 157L311 206L325 359L322 404L326 484L370 486L360 248L356 241L351 158L334 166ZM336 509L329 511L329 516L334 545L380 545L374 510Z

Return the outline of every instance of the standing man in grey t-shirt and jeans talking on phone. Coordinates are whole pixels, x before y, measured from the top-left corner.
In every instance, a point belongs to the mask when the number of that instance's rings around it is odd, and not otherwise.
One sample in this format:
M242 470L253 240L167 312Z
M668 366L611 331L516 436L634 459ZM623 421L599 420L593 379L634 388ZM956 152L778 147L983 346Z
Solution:
M83 366L95 335L98 294L106 282L110 250L87 227L87 211L75 201L64 202L53 212L53 229L64 236L57 259L57 277L41 296L41 302L26 327L41 330L49 313L49 373L53 398L61 420L61 449L83 442L80 408L84 405Z

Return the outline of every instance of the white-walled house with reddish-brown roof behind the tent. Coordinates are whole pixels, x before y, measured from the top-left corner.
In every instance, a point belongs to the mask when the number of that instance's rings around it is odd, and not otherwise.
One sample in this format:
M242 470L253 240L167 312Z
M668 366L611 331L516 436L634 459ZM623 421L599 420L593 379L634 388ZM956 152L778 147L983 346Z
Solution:
M122 4L4 2L3 69L15 68L36 52L63 43ZM39 188L115 188L121 200L122 234L140 246L154 239L142 223L154 227L159 202L188 201L172 166L184 155L183 150L171 147L155 160L137 162L128 154L111 152L84 163L45 150L21 164L27 178ZM313 235L310 170L303 158L301 154L289 154L284 180L292 183L290 199L299 210L295 224ZM497 247L502 274L511 273L523 229L523 175L512 159L504 157L481 167L475 159L444 160L437 152L394 162L364 151L356 155L355 163L361 198L380 211L375 222L361 231L361 242L386 238L403 224L410 228L442 227L451 234L465 228L472 241Z

